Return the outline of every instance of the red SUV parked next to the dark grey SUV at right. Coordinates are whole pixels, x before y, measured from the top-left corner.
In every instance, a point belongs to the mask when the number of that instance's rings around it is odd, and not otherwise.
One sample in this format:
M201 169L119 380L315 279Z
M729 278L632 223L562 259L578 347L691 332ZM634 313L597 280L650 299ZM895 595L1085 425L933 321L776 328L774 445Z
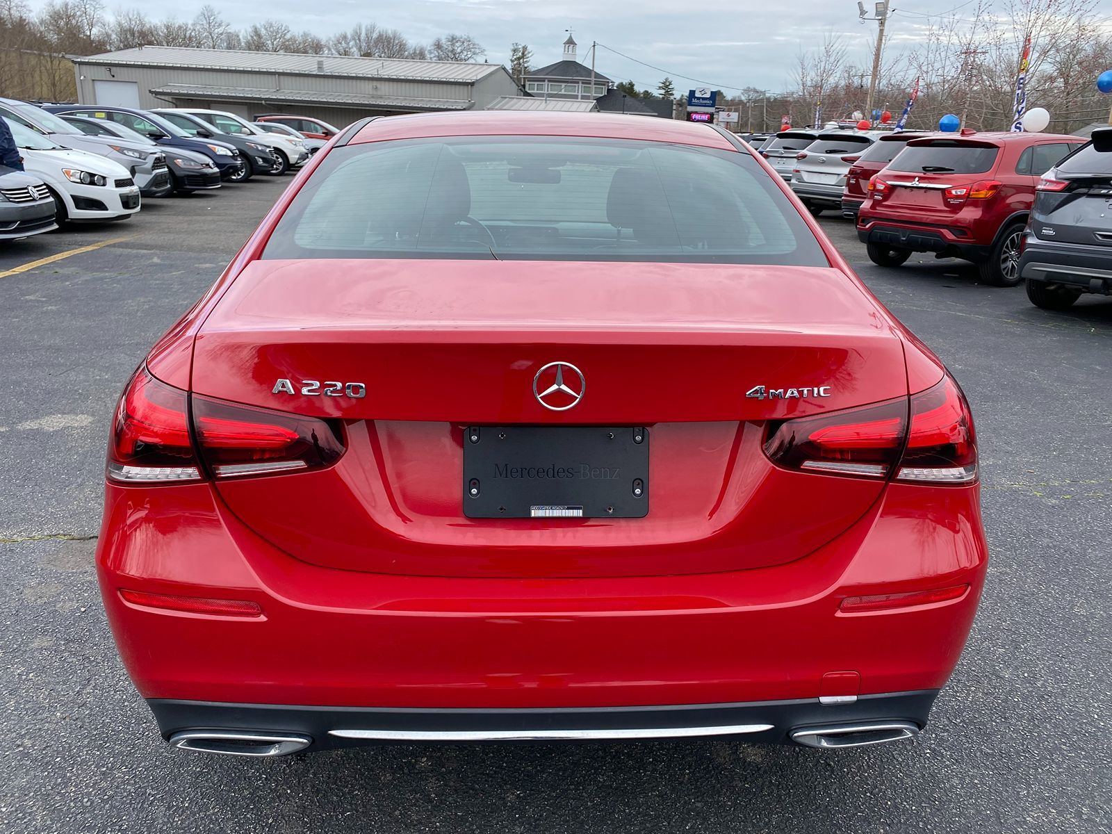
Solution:
M987 284L1013 287L1039 177L1083 143L1054 133L912 140L870 180L857 237L882 267L935 252L976 264Z

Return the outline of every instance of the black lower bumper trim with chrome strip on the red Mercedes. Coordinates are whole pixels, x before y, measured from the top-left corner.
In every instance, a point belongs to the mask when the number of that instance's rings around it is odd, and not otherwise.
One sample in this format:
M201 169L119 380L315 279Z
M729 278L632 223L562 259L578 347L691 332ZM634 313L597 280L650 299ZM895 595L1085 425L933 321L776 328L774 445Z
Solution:
M852 704L801 699L553 709L286 706L158 698L147 703L165 738L203 729L286 733L311 738L308 749L320 751L384 741L495 741L530 734L587 741L607 735L634 739L722 736L731 735L732 728L745 741L776 744L788 743L791 731L808 726L906 721L922 728L936 696L937 691L929 689L863 695Z

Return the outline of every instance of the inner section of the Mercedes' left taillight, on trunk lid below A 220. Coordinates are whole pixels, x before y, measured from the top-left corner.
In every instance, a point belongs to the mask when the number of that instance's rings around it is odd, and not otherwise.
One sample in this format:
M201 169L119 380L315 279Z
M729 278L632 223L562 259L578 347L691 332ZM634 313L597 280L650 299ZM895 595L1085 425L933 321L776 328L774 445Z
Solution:
M198 395L192 406L201 460L218 479L316 469L344 454L339 427L328 420Z

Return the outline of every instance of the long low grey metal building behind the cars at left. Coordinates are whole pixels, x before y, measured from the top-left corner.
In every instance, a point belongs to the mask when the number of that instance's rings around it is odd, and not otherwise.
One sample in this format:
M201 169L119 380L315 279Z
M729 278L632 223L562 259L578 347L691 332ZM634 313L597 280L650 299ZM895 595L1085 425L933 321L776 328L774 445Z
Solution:
M245 118L314 116L347 125L367 116L483 110L520 88L497 63L138 47L73 58L78 100L117 107L197 107Z

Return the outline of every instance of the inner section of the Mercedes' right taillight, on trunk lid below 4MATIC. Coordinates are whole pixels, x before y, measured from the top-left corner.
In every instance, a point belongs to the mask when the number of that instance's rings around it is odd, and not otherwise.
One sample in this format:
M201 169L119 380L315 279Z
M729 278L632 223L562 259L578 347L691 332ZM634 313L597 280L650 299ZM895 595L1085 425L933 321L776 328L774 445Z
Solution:
M865 478L886 478L900 461L907 399L801 417L780 424L765 441L777 466Z

